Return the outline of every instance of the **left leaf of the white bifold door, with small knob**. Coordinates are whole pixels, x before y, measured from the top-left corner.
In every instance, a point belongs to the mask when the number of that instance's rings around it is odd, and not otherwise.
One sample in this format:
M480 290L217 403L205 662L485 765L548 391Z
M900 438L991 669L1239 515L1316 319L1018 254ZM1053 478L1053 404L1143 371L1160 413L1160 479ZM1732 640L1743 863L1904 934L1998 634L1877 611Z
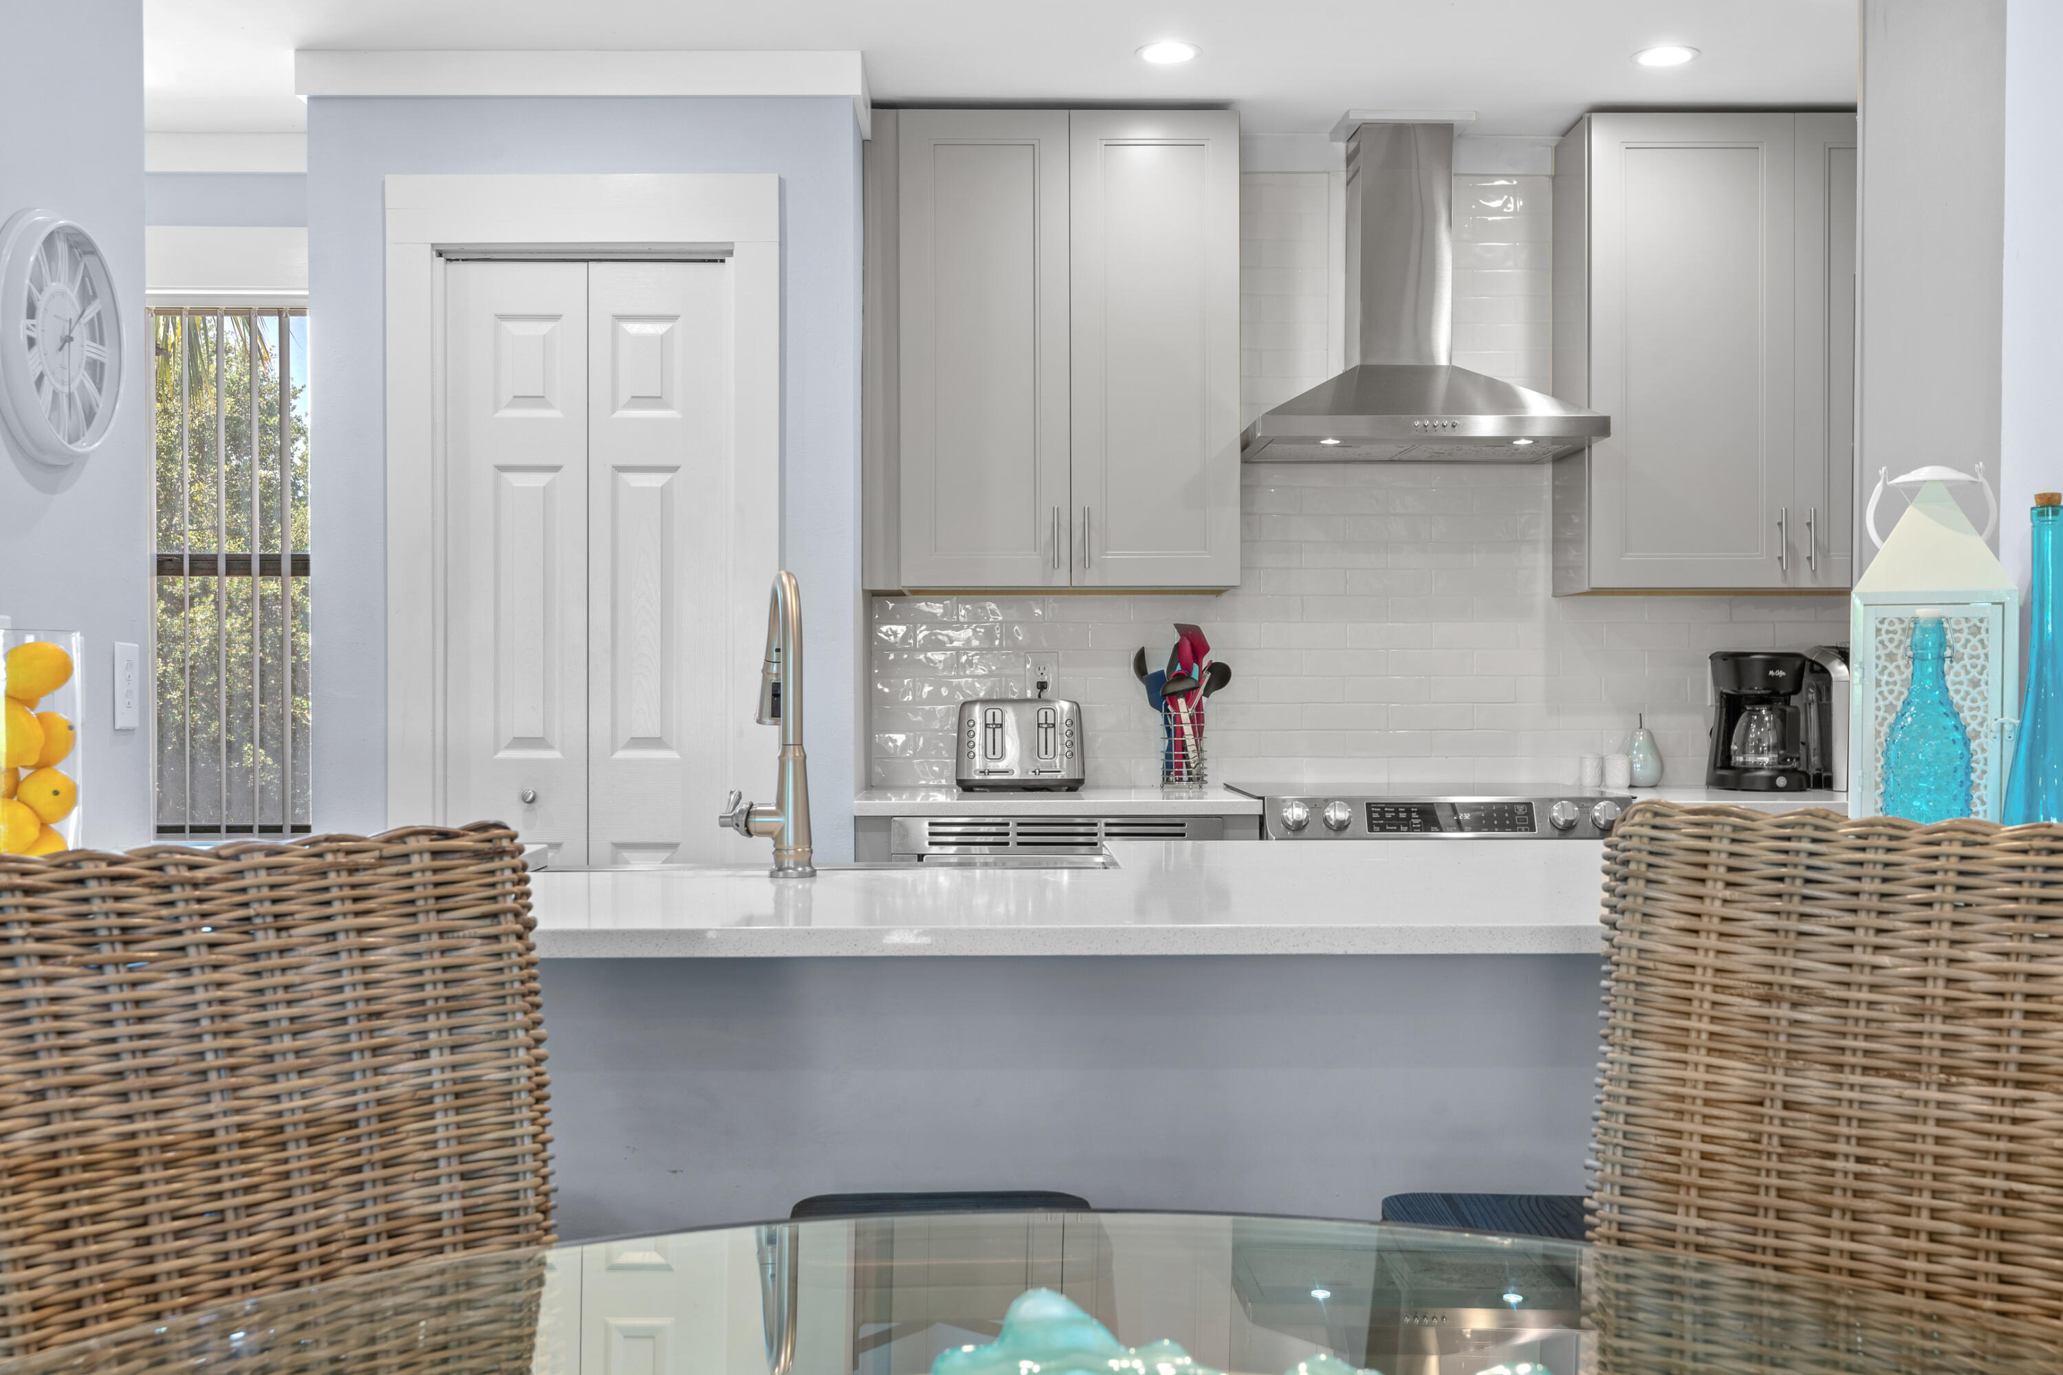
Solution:
M441 820L588 862L588 270L446 276ZM429 590L423 590L429 596Z

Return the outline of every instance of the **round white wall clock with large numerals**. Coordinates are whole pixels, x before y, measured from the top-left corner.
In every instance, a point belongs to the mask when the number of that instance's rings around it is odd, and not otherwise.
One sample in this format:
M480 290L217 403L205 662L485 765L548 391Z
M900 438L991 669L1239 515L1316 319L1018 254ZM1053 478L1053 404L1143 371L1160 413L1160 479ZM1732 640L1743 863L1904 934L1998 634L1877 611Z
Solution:
M0 421L29 458L72 464L122 398L122 311L99 245L50 210L0 227Z

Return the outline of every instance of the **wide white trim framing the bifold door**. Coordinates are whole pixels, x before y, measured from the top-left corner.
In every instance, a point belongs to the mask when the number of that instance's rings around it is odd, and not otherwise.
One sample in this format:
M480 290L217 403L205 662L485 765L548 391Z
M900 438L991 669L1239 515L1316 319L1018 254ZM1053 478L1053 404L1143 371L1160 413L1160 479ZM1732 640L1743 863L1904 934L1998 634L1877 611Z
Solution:
M683 258L730 247L734 282L732 489L736 588L730 627L757 653L763 588L780 550L780 177L429 175L386 179L386 610L388 825L444 818L444 256L507 245L666 245ZM718 647L724 653L724 647ZM716 658L730 662L736 656ZM743 662L743 660L739 660ZM743 707L741 707L743 711ZM751 713L730 711L739 722ZM369 744L369 742L367 742ZM745 785L741 779L739 785ZM470 818L462 818L470 820ZM714 816L712 816L712 827Z

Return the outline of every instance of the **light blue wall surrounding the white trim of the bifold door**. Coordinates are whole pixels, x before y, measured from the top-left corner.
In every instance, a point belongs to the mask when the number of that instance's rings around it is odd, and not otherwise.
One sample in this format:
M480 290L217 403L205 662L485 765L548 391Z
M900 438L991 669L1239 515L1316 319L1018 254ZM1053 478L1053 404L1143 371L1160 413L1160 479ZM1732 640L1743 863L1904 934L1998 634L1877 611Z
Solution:
M862 610L860 140L842 97L309 101L316 829L417 820L386 814L382 179L512 171L780 173L782 559L809 612L817 851L850 858ZM710 825L726 787L710 781Z

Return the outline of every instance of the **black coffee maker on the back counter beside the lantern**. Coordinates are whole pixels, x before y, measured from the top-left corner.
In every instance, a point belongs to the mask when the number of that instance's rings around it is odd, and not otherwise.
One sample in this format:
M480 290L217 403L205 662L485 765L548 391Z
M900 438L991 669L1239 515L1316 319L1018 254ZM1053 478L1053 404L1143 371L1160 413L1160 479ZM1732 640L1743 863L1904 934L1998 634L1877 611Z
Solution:
M1848 686L1846 662L1842 645L1820 645L1803 653L1714 653L1706 787L1846 787L1848 724L1846 711L1836 711L1836 686ZM1842 717L1838 732L1836 715Z

